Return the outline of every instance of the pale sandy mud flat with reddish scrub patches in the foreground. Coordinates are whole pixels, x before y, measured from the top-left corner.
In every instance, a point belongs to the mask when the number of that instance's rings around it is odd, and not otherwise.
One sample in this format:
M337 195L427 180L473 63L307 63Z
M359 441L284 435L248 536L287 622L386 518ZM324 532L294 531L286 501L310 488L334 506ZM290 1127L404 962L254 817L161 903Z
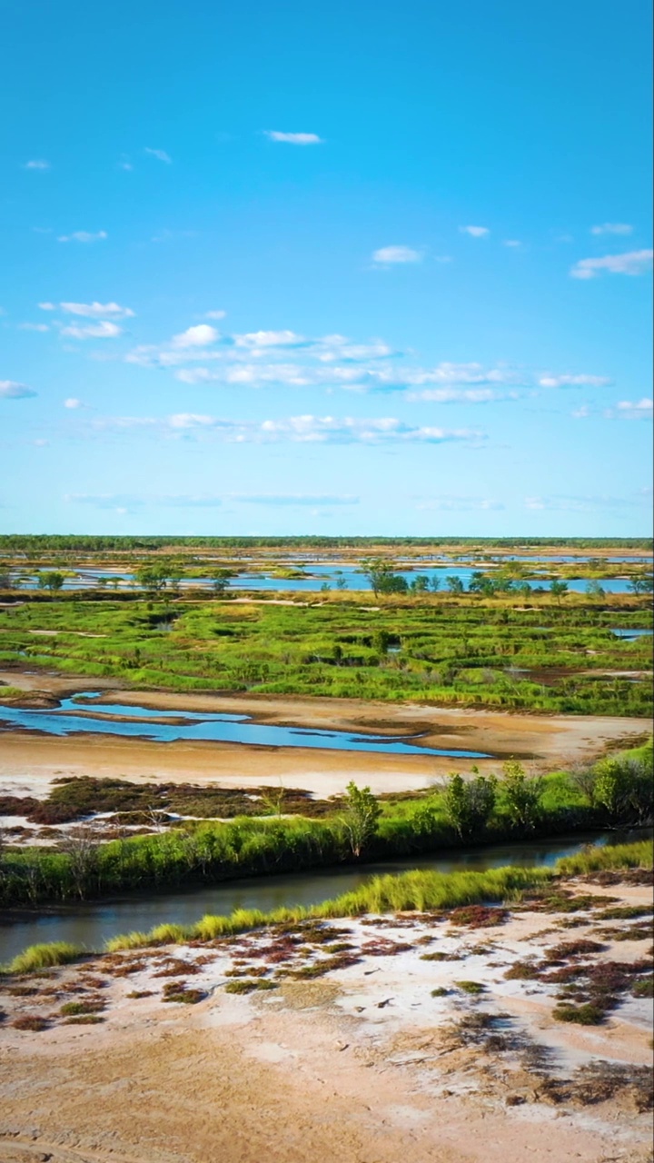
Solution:
M548 973L582 961L644 972L642 921L600 914L645 913L651 890L568 889L593 900L517 907L499 925L401 914L258 930L20 979L38 992L5 982L0 1160L644 1163L651 1001L627 990L603 1025L570 1026L553 1018L560 985L506 977L525 958ZM553 954L584 940L599 948ZM191 990L197 1004L163 1004ZM97 1025L66 1025L71 1000ZM48 1028L14 1025L30 1015Z

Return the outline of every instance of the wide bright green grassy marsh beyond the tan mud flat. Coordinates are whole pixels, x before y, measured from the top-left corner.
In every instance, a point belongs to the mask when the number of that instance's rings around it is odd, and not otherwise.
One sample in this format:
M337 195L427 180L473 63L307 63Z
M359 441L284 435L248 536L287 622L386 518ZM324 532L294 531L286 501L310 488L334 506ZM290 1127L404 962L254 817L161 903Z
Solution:
M510 594L486 600L443 593L383 598L378 612L365 608L361 594L299 597L301 604L292 607L235 605L206 594L168 602L142 595L30 600L0 612L1 657L20 665L27 658L30 669L179 692L419 698L589 714L652 711L651 684L602 673L651 669L652 638L611 634L612 627L652 626L646 597L569 595L559 606L546 594L526 604ZM30 633L35 629L57 635L40 638ZM379 648L379 629L399 652Z

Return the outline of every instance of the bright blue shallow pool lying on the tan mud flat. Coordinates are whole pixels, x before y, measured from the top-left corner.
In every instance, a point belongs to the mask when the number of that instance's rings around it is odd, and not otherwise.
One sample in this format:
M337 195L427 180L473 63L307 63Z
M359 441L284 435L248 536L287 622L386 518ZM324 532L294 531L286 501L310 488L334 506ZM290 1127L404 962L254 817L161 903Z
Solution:
M33 711L0 704L0 732L41 732L47 735L122 735L158 743L196 740L220 743L248 743L256 747L307 747L336 751L385 751L389 755L439 755L462 759L488 759L484 751L420 747L420 735L361 735L344 730L313 730L300 727L273 727L253 722L249 715L213 714L196 711L152 711L118 702L94 704L97 693L62 699L52 711ZM90 700L90 701L86 701ZM121 716L109 718L111 715Z

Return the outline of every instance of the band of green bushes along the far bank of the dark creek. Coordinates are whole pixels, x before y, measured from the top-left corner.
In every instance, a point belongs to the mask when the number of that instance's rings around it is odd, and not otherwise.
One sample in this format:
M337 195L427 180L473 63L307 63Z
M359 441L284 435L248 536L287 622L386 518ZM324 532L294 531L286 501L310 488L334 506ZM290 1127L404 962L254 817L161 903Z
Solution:
M621 787L618 816L599 798L607 762ZM555 772L541 779L529 780L520 764L511 761L497 778L467 782L454 775L413 798L377 800L369 789L350 784L346 795L320 819L270 814L177 821L168 830L125 833L104 843L92 822L80 823L55 848L6 847L0 852L0 904L36 906L126 891L166 892L236 877L407 857L462 843L493 843L606 825L642 826L651 823L654 814L652 770L648 743L589 770ZM102 782L97 783L100 798ZM481 783L486 791L492 787L492 795L483 798L483 812ZM77 784L61 784L52 794L58 797L63 790L74 802ZM467 821L463 832L462 819ZM610 866L616 857L605 851L592 849L588 859L597 861L598 869L603 859Z

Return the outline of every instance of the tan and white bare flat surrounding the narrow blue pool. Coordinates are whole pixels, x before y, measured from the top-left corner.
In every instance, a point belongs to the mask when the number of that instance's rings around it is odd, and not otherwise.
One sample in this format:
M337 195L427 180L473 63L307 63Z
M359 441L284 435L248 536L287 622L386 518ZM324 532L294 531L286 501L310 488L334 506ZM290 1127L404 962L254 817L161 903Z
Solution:
M61 676L0 672L0 680L26 691L55 695L109 687L108 683ZM453 770L497 770L509 757L525 758L533 771L588 762L607 747L644 737L647 719L577 715L516 715L489 711L396 706L356 699L299 699L266 695L169 694L115 687L109 702L155 709L213 711L249 714L278 726L329 728L382 734L420 733L426 747L484 751L496 759L457 759L436 756L392 756L382 751L354 752L304 748L268 748L232 743L71 736L55 739L20 732L0 736L0 790L15 794L45 794L55 776L121 776L135 782L218 783L222 786L303 787L320 797L342 792L350 779L364 780L374 792L428 787ZM22 791L19 791L22 789Z

